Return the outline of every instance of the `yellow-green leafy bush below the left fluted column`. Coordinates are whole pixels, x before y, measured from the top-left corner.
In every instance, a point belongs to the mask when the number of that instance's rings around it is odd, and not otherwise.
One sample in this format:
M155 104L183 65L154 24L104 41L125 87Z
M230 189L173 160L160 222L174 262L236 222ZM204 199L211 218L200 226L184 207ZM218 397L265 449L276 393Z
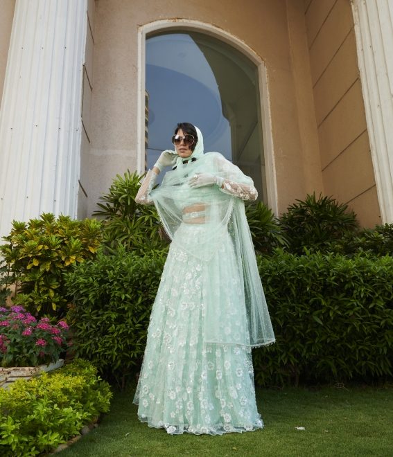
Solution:
M40 219L12 223L0 253L21 283L15 304L32 314L64 316L67 290L62 274L74 263L93 258L101 243L101 223L95 219L55 219L43 214Z

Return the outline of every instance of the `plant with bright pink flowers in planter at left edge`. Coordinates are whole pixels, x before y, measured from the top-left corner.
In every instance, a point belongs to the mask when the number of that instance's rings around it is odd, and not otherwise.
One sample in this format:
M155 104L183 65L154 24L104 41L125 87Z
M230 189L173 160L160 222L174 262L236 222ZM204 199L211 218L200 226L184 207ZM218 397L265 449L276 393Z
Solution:
M58 361L67 349L68 325L43 317L37 321L23 306L0 307L0 365L36 366Z

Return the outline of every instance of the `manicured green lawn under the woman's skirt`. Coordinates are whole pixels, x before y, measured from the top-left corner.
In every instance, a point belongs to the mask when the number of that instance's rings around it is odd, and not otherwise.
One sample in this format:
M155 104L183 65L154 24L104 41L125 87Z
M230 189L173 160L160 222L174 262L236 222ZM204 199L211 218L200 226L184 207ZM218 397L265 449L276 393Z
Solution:
M100 427L62 456L392 456L393 388L257 391L265 429L170 436L137 419L133 391L116 393ZM296 427L305 427L300 431Z

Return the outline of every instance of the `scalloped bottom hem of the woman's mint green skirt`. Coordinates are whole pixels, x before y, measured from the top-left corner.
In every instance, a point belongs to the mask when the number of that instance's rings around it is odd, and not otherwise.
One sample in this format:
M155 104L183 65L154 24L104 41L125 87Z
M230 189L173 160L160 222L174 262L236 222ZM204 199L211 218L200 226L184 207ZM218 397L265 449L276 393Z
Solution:
M256 431L263 429L263 421L257 420L255 424L244 425L235 427L233 424L216 424L214 426L205 426L201 424L197 425L173 425L173 424L164 424L164 422L158 422L153 424L148 420L147 417L143 418L138 415L138 418L141 422L146 422L148 427L152 429L165 429L168 435L182 435L183 433L191 433L193 435L223 435L224 433L244 433L245 431Z

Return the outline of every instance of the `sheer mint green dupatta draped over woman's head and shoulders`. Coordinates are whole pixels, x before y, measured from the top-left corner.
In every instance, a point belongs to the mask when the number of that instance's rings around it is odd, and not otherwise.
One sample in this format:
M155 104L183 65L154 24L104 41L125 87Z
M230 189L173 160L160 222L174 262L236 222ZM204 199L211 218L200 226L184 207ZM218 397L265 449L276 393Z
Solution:
M198 143L187 159L177 157L175 168L166 172L159 188L152 190L150 197L158 210L161 222L172 240L187 256L206 262L201 285L204 303L204 341L206 343L241 344L257 347L274 343L268 307L259 277L250 228L245 217L241 195L234 196L216 185L192 188L189 179L198 173L209 173L225 180L226 187L253 186L252 179L245 176L233 163L218 152L204 154L203 136L198 127ZM225 186L224 186L225 187ZM239 198L240 197L240 198ZM234 287L241 290L240 303L222 303L220 256L225 243L233 245L232 271L238 278ZM232 248L231 248L232 249ZM225 265L225 271L228 265ZM184 271L187 280L187 271ZM236 292L236 296L239 296ZM234 307L241 307L245 331L233 329ZM238 313L236 313L238 314ZM232 330L228 331L232 322Z

